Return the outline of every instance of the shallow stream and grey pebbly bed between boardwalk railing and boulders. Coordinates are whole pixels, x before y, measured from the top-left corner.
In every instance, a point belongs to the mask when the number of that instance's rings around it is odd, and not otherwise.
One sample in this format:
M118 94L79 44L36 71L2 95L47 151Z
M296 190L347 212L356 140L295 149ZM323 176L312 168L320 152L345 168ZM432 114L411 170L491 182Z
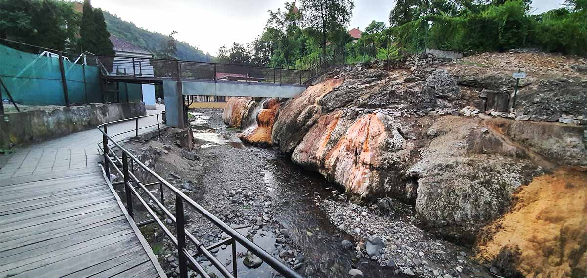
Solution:
M205 209L304 276L490 277L487 267L471 260L470 250L418 228L410 205L390 198L353 204L342 187L292 163L288 155L242 143L241 131L227 128L219 110L193 111L190 120L193 151L180 147L183 134L174 130L161 139L130 141L127 147ZM151 192L159 196L158 188ZM165 199L173 209L174 196L166 192ZM145 211L135 214L136 222L147 219ZM225 238L197 212L190 211L187 219L187 228L204 245ZM141 230L168 275L176 277L177 254L162 231L154 224ZM239 277L276 276L242 246L237 252ZM212 253L232 269L230 246ZM221 276L210 263L204 266Z

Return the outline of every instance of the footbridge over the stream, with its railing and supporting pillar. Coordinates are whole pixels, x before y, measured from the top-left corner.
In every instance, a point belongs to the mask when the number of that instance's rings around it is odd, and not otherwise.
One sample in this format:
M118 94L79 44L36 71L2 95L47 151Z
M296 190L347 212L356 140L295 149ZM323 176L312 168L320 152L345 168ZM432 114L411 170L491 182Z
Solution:
M340 58L342 52L306 70L123 56L89 55L87 62L99 66L107 82L163 84L167 125L183 128L183 96L291 98Z

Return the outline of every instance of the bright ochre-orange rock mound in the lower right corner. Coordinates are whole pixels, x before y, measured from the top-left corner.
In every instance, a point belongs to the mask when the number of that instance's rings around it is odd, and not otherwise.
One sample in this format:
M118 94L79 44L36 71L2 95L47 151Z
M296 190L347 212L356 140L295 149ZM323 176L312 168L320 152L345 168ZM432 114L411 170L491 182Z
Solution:
M587 271L587 169L562 167L521 187L509 212L485 227L478 258L502 248L521 250L516 266L526 277L578 277ZM581 274L582 273L582 274Z

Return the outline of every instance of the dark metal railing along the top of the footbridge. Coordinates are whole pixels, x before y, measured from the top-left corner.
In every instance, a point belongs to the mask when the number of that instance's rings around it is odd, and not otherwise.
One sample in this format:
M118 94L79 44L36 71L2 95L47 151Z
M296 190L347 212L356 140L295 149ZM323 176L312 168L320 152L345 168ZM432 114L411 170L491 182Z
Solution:
M87 63L99 66L104 76L130 79L203 79L279 84L304 84L308 70L243 66L224 63L130 56L87 55Z

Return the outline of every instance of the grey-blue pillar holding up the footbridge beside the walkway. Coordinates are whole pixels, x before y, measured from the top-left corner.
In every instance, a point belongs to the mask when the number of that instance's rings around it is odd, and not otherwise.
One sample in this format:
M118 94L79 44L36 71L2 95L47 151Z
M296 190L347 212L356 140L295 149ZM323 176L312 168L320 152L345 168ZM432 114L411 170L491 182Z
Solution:
M184 128L183 85L181 82L163 80L167 126Z

